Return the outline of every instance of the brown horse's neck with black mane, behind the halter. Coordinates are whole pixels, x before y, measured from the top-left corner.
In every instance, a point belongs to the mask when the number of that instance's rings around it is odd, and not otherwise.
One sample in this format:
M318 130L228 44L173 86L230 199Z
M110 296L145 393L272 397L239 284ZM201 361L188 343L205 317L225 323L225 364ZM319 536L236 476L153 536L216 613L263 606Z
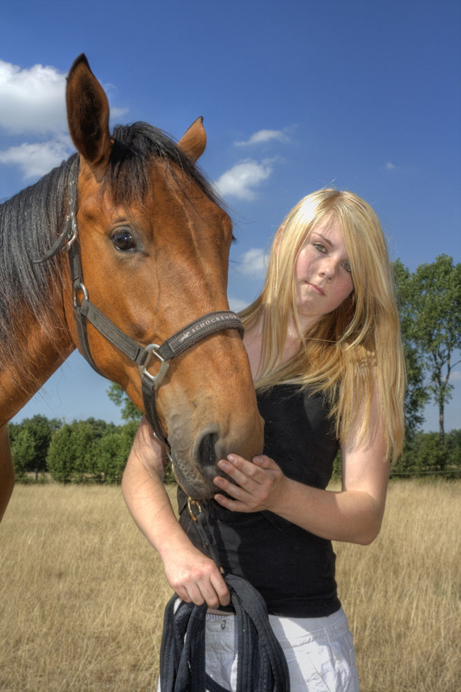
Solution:
M71 159L0 206L0 425L75 348L64 315L67 260L33 262L62 229L70 165Z

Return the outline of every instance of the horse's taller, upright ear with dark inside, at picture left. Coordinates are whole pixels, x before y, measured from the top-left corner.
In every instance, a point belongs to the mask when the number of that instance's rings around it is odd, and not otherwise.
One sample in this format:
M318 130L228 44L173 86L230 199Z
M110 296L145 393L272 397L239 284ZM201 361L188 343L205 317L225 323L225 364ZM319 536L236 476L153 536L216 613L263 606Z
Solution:
M83 53L67 76L66 104L72 141L94 172L105 166L112 147L109 102Z

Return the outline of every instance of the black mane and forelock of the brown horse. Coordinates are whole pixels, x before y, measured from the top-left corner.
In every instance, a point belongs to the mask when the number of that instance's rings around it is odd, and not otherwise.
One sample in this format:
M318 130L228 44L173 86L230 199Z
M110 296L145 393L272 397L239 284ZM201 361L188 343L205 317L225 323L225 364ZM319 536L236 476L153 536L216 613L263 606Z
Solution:
M181 169L206 196L221 204L199 167L162 130L136 122L117 125L114 146L102 181L101 194L109 194L121 206L143 203L150 185L152 158L165 161L174 175ZM62 256L44 263L43 257L60 234L66 213L69 176L78 172L78 154L54 168L34 185L0 205L0 358L20 369L26 355L21 321L30 313L57 344L61 319L51 310L53 292L62 286ZM77 173L75 173L77 174ZM179 181L178 181L179 182ZM187 194L186 190L183 190ZM66 261L66 260L65 260ZM54 291L52 290L54 289ZM25 366L26 367L26 366Z

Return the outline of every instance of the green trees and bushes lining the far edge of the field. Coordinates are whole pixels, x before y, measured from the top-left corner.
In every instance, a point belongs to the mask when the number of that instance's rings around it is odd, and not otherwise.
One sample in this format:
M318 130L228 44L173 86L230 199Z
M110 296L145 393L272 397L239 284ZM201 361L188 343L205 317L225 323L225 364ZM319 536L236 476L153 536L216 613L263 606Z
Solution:
M400 260L392 268L408 386L404 454L391 475L459 476L461 429L445 431L444 410L453 396L450 376L461 362L461 264L440 255L414 273ZM112 384L108 395L121 408L120 426L93 418L69 424L42 415L8 424L17 480L49 474L62 483L120 483L141 412L119 385ZM439 412L438 432L421 429L429 401ZM336 475L340 468L338 457ZM167 480L173 480L171 470Z

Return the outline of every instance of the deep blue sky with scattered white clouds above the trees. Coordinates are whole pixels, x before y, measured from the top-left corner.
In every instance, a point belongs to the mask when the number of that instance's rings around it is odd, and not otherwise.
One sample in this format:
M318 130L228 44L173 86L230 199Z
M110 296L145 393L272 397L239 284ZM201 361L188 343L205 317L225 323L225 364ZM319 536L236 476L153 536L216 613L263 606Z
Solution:
M204 116L201 167L238 240L235 309L257 295L289 208L329 184L372 204L392 260L460 262L460 44L459 0L2 3L0 199L72 153L64 78L84 52L113 124L146 120L180 138ZM456 370L447 429L460 427ZM118 422L107 386L73 354L15 420ZM432 406L425 428L437 429Z

